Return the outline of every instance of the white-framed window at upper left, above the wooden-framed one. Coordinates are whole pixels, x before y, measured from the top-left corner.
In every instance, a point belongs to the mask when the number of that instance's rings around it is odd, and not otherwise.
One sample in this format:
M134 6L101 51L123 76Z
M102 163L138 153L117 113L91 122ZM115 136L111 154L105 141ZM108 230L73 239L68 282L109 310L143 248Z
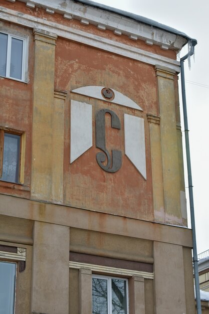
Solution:
M25 81L26 38L0 32L0 76Z

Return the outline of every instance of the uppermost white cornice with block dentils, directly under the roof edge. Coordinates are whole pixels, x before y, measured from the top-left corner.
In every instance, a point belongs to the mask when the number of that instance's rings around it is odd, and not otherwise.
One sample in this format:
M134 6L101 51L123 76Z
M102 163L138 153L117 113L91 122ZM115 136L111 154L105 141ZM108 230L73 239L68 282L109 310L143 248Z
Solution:
M10 1L10 0L8 0ZM113 12L105 11L96 7L88 6L82 3L75 3L72 0L19 0L26 3L27 6L40 7L49 14L54 12L71 16L73 19L86 21L86 25L93 24L97 27L103 27L103 30L109 29L113 32L121 32L130 39L141 39L148 45L156 44L162 49L173 49L179 51L187 42L182 36L166 32L157 27L134 21L128 17L121 16Z

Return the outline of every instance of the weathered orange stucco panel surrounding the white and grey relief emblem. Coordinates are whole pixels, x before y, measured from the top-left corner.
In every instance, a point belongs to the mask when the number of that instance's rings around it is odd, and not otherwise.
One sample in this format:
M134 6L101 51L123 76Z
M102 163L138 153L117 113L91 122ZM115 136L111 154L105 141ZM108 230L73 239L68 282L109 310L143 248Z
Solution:
M143 112L102 100L70 94L87 85L111 87L130 97ZM158 114L154 68L84 45L57 40L55 88L68 91L65 113L64 202L65 204L135 218L153 219L150 143L146 113ZM93 147L70 165L70 98L93 105ZM97 164L95 114L99 109L113 110L121 130L112 129L106 115L107 148L122 151L122 168L115 174L104 172ZM147 180L144 180L124 154L123 114L144 118Z

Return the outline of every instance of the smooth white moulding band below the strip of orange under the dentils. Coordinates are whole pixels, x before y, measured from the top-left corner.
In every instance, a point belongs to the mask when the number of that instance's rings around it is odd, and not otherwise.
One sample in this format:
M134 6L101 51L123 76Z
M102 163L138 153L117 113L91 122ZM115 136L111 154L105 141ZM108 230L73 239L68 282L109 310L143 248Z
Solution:
M0 7L0 19L29 28L55 33L57 36L92 46L117 55L145 62L151 65L161 65L179 72L180 63L176 60L162 57L151 52L122 44L91 33L83 32L55 22L47 21L31 15L23 14L5 7Z

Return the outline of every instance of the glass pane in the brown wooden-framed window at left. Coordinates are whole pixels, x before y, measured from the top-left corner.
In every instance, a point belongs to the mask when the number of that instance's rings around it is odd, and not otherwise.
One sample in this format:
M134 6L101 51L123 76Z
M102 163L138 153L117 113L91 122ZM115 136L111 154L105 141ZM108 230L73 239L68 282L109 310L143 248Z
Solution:
M20 135L5 133L2 180L19 182Z

